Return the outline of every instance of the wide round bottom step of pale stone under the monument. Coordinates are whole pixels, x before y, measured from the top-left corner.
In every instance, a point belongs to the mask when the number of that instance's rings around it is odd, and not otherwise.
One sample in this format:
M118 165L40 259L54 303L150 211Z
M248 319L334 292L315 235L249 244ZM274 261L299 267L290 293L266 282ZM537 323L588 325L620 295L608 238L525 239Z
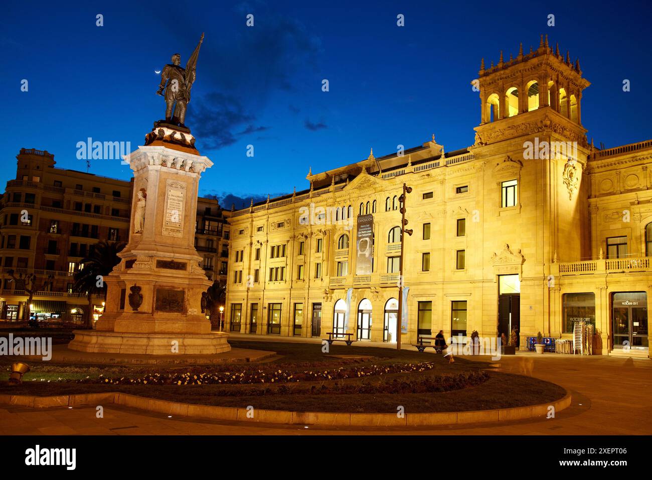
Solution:
M136 353L145 355L213 355L230 351L228 333L208 334L123 333L74 330L68 348L96 353Z

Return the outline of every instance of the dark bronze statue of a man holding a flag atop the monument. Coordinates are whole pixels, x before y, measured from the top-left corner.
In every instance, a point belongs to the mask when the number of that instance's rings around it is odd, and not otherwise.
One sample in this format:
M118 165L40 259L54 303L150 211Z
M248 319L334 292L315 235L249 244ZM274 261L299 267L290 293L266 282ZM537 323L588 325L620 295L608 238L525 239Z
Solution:
M165 98L166 123L185 127L186 106L190 102L190 89L197 78L197 57L200 54L201 42L203 42L203 33L185 69L181 67L181 55L174 54L172 63L166 65L161 72L161 83L156 95L163 95Z

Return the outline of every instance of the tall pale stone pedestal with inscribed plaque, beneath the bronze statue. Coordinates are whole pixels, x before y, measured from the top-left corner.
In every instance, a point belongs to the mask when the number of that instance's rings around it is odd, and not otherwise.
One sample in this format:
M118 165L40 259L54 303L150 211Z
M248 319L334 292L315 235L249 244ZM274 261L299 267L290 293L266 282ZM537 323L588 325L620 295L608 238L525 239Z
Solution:
M96 330L76 330L68 348L106 353L204 355L231 349L211 332L201 298L211 286L194 248L201 172L211 167L188 129L155 124L127 158L134 170L129 242L104 278Z

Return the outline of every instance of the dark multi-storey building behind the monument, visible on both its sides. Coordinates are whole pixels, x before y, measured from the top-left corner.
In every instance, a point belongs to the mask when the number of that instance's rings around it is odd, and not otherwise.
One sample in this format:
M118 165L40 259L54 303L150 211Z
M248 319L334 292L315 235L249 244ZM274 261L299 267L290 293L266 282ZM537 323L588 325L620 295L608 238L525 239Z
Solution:
M22 321L29 295L9 274L34 274L38 319L80 322L88 308L74 273L98 240L128 240L132 182L55 167L47 151L20 150L0 210L0 321ZM226 282L228 226L216 199L198 199L196 249L209 280ZM104 298L93 298L95 319Z

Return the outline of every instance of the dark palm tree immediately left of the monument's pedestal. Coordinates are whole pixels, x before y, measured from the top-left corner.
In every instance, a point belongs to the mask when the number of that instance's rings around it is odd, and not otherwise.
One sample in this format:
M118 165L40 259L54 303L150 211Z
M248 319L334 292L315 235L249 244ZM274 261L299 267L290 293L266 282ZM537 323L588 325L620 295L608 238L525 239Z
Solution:
M93 328L93 295L106 295L104 277L111 273L113 267L120 263L118 252L125 248L125 242L108 242L100 240L95 248L80 262L80 270L75 273L72 291L85 293L88 309L85 316L87 328Z

